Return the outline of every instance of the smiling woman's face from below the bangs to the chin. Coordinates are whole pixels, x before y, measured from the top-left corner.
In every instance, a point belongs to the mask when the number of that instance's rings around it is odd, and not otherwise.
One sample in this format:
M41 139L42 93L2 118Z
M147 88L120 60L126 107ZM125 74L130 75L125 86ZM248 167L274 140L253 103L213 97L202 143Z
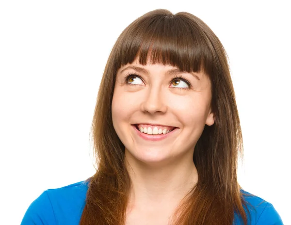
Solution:
M175 78L181 75L186 80ZM146 164L193 162L205 124L214 123L210 101L211 84L203 73L178 73L177 67L143 66L138 60L122 66L116 75L112 118L126 157Z

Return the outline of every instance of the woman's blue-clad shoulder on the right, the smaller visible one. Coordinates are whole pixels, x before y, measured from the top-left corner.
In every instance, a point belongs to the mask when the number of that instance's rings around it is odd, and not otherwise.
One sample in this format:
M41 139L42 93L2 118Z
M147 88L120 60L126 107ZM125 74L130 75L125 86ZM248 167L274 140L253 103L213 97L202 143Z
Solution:
M283 225L279 213L274 206L259 196L241 190L242 198L246 202L246 213L250 225Z

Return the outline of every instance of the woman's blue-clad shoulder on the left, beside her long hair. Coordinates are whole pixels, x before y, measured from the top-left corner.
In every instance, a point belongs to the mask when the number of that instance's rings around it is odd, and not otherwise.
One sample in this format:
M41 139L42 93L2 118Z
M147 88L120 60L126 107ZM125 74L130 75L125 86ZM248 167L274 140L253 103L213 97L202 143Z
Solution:
M77 225L85 206L88 181L48 189L26 211L21 225Z

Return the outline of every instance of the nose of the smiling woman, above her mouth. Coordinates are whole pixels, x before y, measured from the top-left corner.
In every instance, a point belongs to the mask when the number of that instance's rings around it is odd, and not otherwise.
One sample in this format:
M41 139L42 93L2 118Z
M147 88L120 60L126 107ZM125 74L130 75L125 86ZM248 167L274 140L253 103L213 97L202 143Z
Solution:
M167 111L166 98L163 95L161 86L150 87L145 92L145 99L141 109L144 112L155 114L156 112L165 113Z

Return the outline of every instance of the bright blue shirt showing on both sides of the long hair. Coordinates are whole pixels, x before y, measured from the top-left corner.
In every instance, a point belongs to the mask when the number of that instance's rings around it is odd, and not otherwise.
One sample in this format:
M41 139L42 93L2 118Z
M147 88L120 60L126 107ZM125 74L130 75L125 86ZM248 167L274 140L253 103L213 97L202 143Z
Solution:
M79 225L85 206L87 184L81 181L44 191L29 206L21 225ZM258 196L245 197L245 200L256 209L248 208L251 212L249 225L283 225L281 217L271 203ZM242 224L236 214L233 224Z

